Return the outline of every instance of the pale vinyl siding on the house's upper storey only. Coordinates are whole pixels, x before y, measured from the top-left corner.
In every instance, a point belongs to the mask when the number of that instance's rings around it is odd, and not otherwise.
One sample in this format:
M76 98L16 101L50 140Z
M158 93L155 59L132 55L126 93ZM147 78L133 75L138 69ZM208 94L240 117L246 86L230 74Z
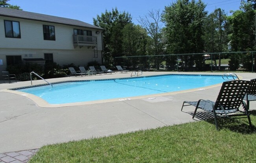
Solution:
M20 22L21 39L6 38L4 31L4 20ZM55 27L55 41L44 40L43 25ZM0 16L0 48L25 48L25 49L74 49L73 34L74 29L92 31L93 36L97 36L98 50L102 50L101 33L96 34L96 29L75 27L71 25L61 25L33 20L23 20L17 18L5 18ZM102 32L102 31L101 31ZM76 47L79 48L79 47Z

